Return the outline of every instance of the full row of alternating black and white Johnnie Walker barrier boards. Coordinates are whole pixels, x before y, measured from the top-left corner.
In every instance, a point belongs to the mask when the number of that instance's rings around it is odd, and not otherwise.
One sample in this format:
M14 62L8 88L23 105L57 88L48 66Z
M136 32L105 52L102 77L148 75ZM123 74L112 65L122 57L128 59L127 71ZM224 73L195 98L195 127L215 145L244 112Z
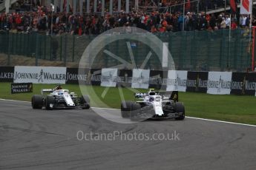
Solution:
M255 95L256 72L190 72L149 69L85 69L66 67L0 67L0 81L33 84L126 86L213 95Z

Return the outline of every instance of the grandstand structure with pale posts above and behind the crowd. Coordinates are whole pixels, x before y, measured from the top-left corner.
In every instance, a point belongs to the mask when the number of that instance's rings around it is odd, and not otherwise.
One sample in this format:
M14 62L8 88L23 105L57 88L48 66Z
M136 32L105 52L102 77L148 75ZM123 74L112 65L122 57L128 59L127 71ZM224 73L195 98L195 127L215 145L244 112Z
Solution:
M256 4L256 0L252 0ZM142 10L151 13L154 10L161 13L193 12L220 13L230 10L229 0L0 0L0 12L10 10L31 10L30 6L45 6L54 4L54 12L73 11L73 13L118 13L132 10ZM67 5L68 4L68 5ZM240 0L237 0L240 7ZM185 8L185 9L184 9ZM104 10L102 10L104 9Z

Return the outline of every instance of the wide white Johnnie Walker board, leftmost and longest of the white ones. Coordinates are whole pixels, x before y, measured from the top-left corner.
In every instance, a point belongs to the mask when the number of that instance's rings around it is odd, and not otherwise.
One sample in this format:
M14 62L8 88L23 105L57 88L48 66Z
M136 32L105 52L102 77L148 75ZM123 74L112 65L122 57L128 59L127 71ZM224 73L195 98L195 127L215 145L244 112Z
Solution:
M65 84L66 67L14 67L14 83Z

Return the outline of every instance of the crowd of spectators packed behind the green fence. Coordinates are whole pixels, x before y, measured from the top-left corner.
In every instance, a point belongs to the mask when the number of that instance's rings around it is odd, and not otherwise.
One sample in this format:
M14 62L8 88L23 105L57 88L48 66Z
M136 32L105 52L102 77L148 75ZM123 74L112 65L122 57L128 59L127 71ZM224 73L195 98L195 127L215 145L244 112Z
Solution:
M191 30L220 30L249 27L249 16L241 15L235 18L228 13L206 15L206 13L160 13L154 10L145 13L143 10L131 13L114 13L105 16L96 14L73 15L73 13L52 13L47 7L36 7L34 11L0 13L0 30L30 33L32 31L54 35L70 34L100 34L114 27L140 27L151 33L164 33ZM53 21L53 24L52 24ZM183 25L184 24L184 25ZM256 24L255 18L252 24Z

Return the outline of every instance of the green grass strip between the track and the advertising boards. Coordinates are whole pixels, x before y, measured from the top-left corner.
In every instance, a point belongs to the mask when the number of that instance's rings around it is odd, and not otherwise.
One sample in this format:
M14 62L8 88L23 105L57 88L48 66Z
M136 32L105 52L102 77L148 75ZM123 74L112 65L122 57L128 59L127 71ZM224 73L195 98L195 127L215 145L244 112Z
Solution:
M33 94L40 94L40 90L53 88L51 84L33 84ZM32 93L10 94L10 83L0 84L0 98L19 101L30 101ZM63 85L70 92L81 94L78 85ZM102 93L105 87L84 86L86 94L90 95L92 106L110 107L119 109L121 98L117 88L109 88L105 98ZM145 89L137 89L146 92ZM122 89L125 100L134 100L134 92L131 89ZM97 96L97 97L96 97ZM208 95L203 93L180 92L179 100L186 107L186 115L197 118L210 118L214 120L226 120L237 123L249 123L256 125L256 98L255 96L241 95Z

